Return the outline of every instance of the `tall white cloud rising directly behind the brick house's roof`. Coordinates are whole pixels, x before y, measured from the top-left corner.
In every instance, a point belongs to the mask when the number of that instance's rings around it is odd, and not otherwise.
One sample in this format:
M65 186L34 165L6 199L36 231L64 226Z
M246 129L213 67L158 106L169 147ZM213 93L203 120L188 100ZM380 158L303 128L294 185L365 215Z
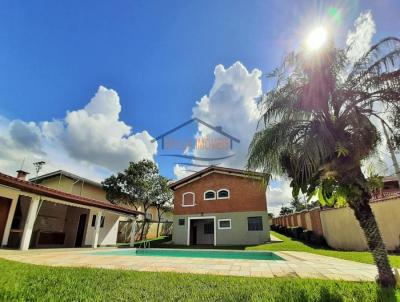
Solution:
M234 143L233 150L229 150L229 148L225 150L218 148L192 149L190 154L207 158L234 154L231 158L219 161L194 160L193 162L202 165L220 163L224 167L243 169L248 146L256 130L259 117L255 98L261 94L261 71L254 69L249 72L242 63L236 62L227 69L222 65L216 66L214 75L215 80L210 93L196 102L193 107L193 117L212 126L222 127L223 131L238 138L240 143ZM198 124L197 131L197 138L224 139L221 134L203 124ZM185 152L188 153L188 151ZM176 165L174 173L177 178L181 178L191 172L188 172L183 166Z

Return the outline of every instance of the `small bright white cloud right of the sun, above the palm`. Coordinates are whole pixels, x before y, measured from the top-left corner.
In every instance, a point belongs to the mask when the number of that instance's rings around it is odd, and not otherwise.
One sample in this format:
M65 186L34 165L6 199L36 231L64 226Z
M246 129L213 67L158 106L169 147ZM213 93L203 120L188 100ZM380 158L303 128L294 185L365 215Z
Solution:
M376 32L375 21L370 11L361 13L354 22L354 31L347 34L346 45L349 48L348 56L355 63L371 47L372 37Z

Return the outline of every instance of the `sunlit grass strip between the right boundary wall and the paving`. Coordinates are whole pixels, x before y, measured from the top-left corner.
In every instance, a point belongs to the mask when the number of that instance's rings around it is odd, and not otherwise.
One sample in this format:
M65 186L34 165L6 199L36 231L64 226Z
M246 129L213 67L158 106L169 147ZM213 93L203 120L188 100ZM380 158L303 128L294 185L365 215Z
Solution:
M304 244L301 241L289 238L282 234L271 231L271 234L283 242L261 244L257 246L247 247L248 250L265 250L265 251L300 251L308 252L318 255L330 256L345 260L357 261L362 263L373 264L372 255L370 252L348 252L348 251L336 251L327 247L317 247ZM400 268L400 255L389 255L390 263L393 267Z

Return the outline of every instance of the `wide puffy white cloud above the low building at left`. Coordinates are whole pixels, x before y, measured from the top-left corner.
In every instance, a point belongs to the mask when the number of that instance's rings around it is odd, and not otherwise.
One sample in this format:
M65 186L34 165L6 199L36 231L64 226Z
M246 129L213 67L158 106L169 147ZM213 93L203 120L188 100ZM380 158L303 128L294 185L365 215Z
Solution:
M41 123L0 118L0 169L13 175L25 158L45 160L46 171L64 169L101 179L127 167L129 161L153 159L157 143L147 131L132 133L119 119L121 104L116 91L100 86L80 110L67 112L62 120Z

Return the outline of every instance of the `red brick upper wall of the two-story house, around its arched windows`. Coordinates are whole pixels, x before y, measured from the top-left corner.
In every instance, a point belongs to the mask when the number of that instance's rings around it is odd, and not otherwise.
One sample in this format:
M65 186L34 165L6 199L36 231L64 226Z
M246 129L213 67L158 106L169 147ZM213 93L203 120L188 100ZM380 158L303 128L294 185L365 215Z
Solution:
M230 191L229 199L204 200L204 192L220 189ZM194 207L182 207L182 195L195 193ZM261 181L234 175L212 173L192 181L174 192L174 214L267 211L265 188Z

